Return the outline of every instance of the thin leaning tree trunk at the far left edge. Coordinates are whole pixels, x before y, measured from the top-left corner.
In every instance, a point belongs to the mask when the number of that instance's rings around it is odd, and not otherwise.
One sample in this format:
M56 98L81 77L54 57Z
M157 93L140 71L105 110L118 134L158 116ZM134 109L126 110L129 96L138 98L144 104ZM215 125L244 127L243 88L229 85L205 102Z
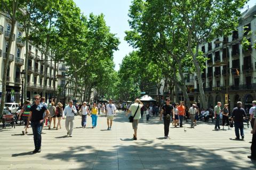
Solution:
M13 33L14 33L14 27L15 27L15 15L17 11L17 6L18 6L18 0L13 1L12 3L12 28L11 28L11 33L9 37L9 42L8 42L8 48L5 54L5 61L4 61L4 72L3 72L3 80L2 80L2 96L1 96L1 105L0 105L0 117L2 117L3 111L4 111L4 103L5 103L5 94L6 94L6 78L7 78L7 69L9 66L9 59L10 59L10 52L11 52L11 47L12 47L12 39L13 39Z

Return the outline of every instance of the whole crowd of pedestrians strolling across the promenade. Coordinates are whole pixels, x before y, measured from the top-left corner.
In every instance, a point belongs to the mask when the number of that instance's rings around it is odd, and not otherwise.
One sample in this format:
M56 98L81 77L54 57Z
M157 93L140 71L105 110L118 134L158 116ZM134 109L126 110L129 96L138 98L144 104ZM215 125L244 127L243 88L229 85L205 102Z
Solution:
M64 109L63 109L64 108ZM220 119L222 118L222 130L225 130L225 124L228 126L228 130L231 125L234 124L235 129L235 140L242 140L245 137L244 134L244 117L246 117L245 110L242 108L242 102L237 102L237 107L235 107L232 111L229 111L228 104L224 104L221 109L221 102L218 102L217 105L212 109L202 109L201 112L199 108L196 106L196 103L192 104L189 108L185 107L184 102L180 103L171 103L170 98L165 99L165 104L161 106L155 106L153 104L143 104L139 99L136 99L134 103L123 103L123 104L114 104L113 100L109 100L108 104L105 103L86 103L76 104L74 106L73 101L70 100L67 106L63 106L62 103L55 103L52 101L47 105L45 103L45 98L40 95L35 95L34 104L31 104L29 101L25 101L24 106L21 109L21 114L19 115L19 119L22 119L25 123L24 128L22 129L22 134L25 135L28 133L29 124L32 127L33 135L34 135L34 144L36 152L41 152L41 141L42 141L42 129L43 123L49 121L48 128L51 129L51 125L53 123L53 128L60 129L61 128L61 119L65 119L65 127L67 130L67 135L72 137L73 128L74 128L74 118L77 113L81 114L81 125L83 128L86 128L87 117L91 116L92 119L92 128L97 127L97 119L98 115L105 114L107 117L107 130L111 130L113 126L113 120L116 115L116 110L126 111L126 115L131 114L132 117L132 128L133 128L133 140L137 140L137 131L140 118L143 115L146 115L146 121L149 121L150 117L158 116L159 119L164 124L164 138L169 138L169 129L170 123L172 122L174 128L183 127L183 119L190 119L190 127L195 128L197 120L204 120L208 122L209 118L215 119L215 131L220 130ZM251 145L251 156L248 156L251 159L256 159L256 101L252 102L252 107L249 111L250 114L250 122L253 134L252 137L252 145ZM58 123L57 123L58 120ZM57 125L56 125L57 123ZM47 124L47 122L46 122Z

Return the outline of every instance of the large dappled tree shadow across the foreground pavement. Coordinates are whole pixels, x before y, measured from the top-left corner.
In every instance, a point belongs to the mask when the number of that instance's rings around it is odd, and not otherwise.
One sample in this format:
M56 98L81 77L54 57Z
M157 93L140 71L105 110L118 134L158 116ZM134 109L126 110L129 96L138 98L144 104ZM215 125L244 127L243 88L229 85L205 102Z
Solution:
M121 139L122 140L122 139ZM68 162L76 161L81 168L91 169L255 169L256 161L243 161L247 155L232 152L233 147L221 148L217 155L214 148L185 147L178 144L153 143L150 140L126 141L107 149L89 145L69 147L60 153L48 153L46 158ZM123 142L122 142L123 143ZM128 145L127 145L128 144ZM247 148L241 148L247 150ZM229 153L232 159L226 158ZM239 152L240 153L240 152ZM243 152L242 152L243 153Z

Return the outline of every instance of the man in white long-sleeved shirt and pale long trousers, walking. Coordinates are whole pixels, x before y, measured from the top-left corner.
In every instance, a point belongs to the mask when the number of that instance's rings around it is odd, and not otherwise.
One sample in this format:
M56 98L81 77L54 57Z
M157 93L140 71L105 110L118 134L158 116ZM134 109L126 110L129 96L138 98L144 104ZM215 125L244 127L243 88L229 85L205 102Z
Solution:
M65 126L67 129L67 135L69 135L69 137L72 137L72 131L74 127L73 121L76 113L77 113L76 107L73 106L73 101L70 100L68 102L68 106L66 106L63 111L63 116L66 116ZM70 129L69 129L69 124L70 124Z

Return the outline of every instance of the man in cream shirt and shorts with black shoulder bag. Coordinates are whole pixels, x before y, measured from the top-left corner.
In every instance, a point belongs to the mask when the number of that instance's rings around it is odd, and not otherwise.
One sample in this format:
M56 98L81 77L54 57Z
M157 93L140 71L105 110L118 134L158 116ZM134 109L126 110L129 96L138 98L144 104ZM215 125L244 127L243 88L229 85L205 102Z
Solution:
M131 104L129 110L126 113L126 116L128 116L128 114L130 114L131 112L129 121L132 123L132 128L134 130L133 140L137 140L137 129L138 129L139 120L141 118L140 109L142 107L143 107L143 103L139 99L136 99L134 103Z

